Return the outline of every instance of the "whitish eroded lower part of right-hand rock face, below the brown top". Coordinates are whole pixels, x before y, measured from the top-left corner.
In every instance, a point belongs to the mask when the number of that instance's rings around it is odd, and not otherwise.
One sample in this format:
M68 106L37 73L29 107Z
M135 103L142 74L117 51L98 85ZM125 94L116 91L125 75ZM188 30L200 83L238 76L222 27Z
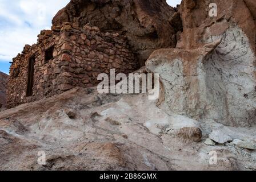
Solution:
M255 55L241 28L197 49L158 49L146 62L162 82L161 108L226 126L255 125Z

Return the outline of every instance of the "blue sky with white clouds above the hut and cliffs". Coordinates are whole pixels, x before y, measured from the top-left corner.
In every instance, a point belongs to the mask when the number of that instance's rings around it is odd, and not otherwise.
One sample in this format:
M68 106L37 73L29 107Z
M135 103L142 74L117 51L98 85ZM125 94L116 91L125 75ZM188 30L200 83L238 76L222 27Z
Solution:
M9 61L25 44L37 42L41 30L70 0L0 0L0 71L9 73ZM176 6L181 0L167 0Z

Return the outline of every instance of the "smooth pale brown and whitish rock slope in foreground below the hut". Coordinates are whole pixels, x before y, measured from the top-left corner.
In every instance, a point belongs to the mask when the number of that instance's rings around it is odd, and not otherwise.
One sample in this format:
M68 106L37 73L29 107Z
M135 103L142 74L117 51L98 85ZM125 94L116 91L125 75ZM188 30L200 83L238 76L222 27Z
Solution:
M74 88L0 113L1 170L255 170L256 152L234 145L207 146L210 129L255 140L255 128L201 123L202 142L179 138L197 125L169 115L146 94L98 94ZM75 118L70 118L72 111ZM198 126L199 127L199 126ZM196 129L197 130L197 129ZM155 131L158 131L157 133ZM45 151L46 165L38 152ZM216 151L217 165L209 153Z

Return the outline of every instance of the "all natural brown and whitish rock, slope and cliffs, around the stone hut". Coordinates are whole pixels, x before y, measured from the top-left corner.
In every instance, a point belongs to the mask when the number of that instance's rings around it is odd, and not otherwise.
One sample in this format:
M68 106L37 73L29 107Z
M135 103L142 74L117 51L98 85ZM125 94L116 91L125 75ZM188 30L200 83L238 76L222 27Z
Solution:
M71 0L54 26L127 36L160 97L74 88L2 111L0 169L256 170L256 3L215 2Z

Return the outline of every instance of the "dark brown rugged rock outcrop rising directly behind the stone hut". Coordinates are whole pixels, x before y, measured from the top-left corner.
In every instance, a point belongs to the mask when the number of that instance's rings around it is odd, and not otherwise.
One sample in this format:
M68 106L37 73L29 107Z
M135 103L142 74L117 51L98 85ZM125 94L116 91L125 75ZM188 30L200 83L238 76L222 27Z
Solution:
M155 49L175 47L175 32L182 28L179 14L165 0L71 0L53 18L54 26L63 22L127 36L141 64Z

